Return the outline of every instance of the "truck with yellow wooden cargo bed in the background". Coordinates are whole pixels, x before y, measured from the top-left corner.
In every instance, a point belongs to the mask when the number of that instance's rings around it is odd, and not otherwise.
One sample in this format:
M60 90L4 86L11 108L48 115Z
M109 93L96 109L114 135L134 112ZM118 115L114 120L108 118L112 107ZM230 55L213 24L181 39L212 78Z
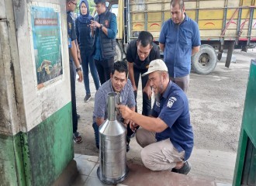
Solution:
M171 19L171 0L107 0L108 9L117 16L115 60L126 57L130 40L146 30L158 42L161 26ZM227 51L226 67L234 48L246 52L256 46L256 0L185 0L185 13L199 25L201 47L192 56L192 68L209 74ZM164 53L163 53L164 54Z

